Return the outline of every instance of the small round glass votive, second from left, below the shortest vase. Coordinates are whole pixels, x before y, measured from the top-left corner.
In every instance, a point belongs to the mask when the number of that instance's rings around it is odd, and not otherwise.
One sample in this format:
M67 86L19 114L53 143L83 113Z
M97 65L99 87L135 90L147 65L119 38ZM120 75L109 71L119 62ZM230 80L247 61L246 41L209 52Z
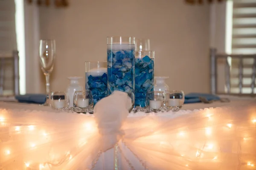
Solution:
M90 90L75 91L73 97L74 107L87 108L88 106L93 107L93 94Z

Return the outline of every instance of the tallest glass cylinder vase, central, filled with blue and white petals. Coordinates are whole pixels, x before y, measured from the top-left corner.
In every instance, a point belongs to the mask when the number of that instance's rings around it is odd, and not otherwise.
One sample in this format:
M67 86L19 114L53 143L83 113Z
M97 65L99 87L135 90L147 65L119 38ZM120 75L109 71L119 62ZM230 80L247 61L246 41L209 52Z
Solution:
M108 37L108 94L134 92L135 37Z

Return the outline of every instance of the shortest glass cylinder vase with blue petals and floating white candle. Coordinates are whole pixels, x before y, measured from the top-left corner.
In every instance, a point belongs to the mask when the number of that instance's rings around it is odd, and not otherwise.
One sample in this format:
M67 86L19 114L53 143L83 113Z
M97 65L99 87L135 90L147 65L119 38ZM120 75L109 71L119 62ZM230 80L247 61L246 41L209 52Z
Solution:
M108 94L107 62L85 62L85 89L92 91L94 105Z

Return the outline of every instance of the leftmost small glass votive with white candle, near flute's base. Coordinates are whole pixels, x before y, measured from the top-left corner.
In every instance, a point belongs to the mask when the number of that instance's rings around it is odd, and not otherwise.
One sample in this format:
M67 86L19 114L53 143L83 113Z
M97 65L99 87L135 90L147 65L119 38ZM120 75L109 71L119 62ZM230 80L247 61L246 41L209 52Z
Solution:
M69 105L69 98L64 91L52 91L50 99L50 106L53 109L61 109Z

